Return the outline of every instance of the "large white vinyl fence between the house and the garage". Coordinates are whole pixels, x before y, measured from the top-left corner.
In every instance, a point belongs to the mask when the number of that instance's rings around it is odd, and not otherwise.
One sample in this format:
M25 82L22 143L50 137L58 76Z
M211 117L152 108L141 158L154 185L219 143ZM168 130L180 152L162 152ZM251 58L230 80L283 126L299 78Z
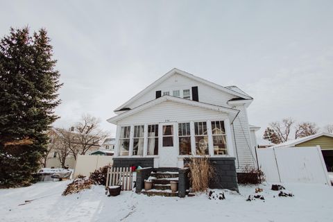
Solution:
M320 146L257 148L257 156L267 182L330 185Z

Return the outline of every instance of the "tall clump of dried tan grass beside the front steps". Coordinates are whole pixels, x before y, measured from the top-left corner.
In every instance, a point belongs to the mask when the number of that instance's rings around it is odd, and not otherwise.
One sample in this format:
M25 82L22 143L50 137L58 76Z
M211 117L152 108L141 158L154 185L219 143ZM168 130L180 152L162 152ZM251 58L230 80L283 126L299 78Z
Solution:
M191 157L189 162L189 178L193 191L206 191L215 171L207 157Z

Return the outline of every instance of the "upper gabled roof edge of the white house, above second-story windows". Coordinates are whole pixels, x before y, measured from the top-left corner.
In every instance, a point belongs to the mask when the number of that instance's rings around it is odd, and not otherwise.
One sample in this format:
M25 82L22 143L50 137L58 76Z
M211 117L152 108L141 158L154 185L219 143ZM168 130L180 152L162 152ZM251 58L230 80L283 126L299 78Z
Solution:
M210 82L208 80L205 80L203 78L200 78L198 76L194 76L192 74L189 74L186 71L182 71L180 69L173 68L169 72L167 72L167 74L164 74L164 76L162 76L161 78L155 80L155 82L151 83L151 85L148 85L148 87L146 87L141 92L139 92L138 94L136 94L135 96L133 96L126 103L123 103L123 105L119 106L116 110L114 110L114 112L117 112L117 111L119 111L119 110L121 110L123 108L126 108L126 106L128 104L132 103L136 99L139 99L139 97L141 97L142 95L146 94L146 92L148 92L149 90L153 89L154 87L156 87L157 85L159 85L160 83L162 83L164 80L166 80L167 78L169 78L173 74L179 74L179 75L182 75L182 76L186 76L187 78L194 79L194 80L198 81L199 83L210 85L210 87L213 87L215 89L219 89L222 92L227 92L228 94L232 94L234 96L239 96L239 97L244 98L244 99L253 99L251 96L249 96L245 92L241 91L241 89L239 89L238 87L237 87L237 89L223 87L221 85L217 85L216 83L212 83L212 82ZM234 86L232 86L232 87L234 87Z

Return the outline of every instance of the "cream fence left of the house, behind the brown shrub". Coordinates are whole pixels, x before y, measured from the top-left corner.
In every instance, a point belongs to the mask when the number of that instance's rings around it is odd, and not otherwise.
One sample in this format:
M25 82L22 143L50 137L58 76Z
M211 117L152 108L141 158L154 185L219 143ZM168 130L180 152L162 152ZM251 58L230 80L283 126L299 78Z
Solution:
M74 178L79 174L83 176L89 176L100 167L104 167L108 164L112 165L113 160L110 155L78 155L76 160L76 166L74 169Z

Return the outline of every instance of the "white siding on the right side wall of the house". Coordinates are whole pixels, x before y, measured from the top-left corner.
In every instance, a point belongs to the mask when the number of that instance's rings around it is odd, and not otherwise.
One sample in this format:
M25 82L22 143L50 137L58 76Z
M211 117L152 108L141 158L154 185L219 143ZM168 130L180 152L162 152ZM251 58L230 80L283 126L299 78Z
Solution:
M237 172L246 167L255 167L255 154L251 144L250 130L248 128L248 115L244 105L235 107L239 112L234 119L232 130L232 140L234 144L234 155L236 160Z

